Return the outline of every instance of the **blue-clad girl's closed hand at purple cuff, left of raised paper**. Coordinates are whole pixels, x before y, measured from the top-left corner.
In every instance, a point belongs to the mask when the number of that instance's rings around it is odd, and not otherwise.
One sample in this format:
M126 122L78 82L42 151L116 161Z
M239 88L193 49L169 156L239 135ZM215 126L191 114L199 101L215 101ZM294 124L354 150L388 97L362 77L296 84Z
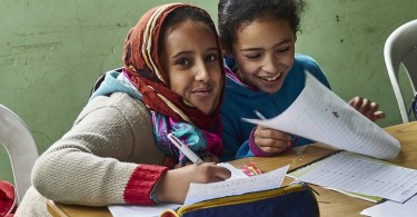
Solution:
M254 132L255 144L267 154L279 154L291 146L291 136L287 132L257 126Z

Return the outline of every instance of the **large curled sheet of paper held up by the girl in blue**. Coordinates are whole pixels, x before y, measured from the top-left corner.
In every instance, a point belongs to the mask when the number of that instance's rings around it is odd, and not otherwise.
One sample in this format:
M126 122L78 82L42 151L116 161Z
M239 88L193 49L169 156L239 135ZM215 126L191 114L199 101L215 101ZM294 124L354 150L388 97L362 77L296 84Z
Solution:
M380 159L393 159L400 149L398 140L309 72L306 87L281 115L268 120L244 120Z

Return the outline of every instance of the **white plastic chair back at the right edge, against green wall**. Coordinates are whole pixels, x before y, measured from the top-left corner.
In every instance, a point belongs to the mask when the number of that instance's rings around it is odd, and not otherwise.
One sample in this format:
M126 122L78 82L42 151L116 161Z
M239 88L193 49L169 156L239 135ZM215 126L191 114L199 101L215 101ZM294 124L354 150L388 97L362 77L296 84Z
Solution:
M393 31L385 42L384 58L403 122L409 122L408 108L398 82L398 71L403 63L411 83L413 96L415 96L417 87L417 20L409 21Z

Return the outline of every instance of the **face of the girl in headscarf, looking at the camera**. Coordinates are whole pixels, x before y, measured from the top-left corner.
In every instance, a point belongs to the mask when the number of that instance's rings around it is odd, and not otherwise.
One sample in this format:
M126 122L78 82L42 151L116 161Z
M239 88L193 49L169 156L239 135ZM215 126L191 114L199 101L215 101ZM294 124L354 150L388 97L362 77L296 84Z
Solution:
M168 28L162 37L160 62L168 72L170 89L210 114L222 82L215 33L203 22L187 20Z

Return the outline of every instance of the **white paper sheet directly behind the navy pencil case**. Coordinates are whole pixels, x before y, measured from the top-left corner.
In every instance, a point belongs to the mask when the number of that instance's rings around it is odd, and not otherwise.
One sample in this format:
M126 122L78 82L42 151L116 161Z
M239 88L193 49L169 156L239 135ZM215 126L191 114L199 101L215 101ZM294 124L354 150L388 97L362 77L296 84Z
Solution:
M289 165L259 176L251 176L247 178L211 184L191 184L186 197L185 205L190 205L212 198L279 188L282 184L288 168Z

